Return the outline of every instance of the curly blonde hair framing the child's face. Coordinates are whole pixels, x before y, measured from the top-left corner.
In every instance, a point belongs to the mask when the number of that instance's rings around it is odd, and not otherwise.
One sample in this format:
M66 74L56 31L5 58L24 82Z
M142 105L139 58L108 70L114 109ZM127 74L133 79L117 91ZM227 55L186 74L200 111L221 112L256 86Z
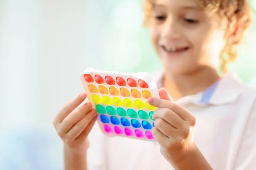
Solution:
M144 3L144 26L150 25L152 0L145 0ZM251 8L248 0L197 0L199 6L207 12L207 14L218 13L221 17L227 18L227 27L225 31L226 45L223 47L220 60L221 72L227 71L227 64L233 62L237 57L236 47L242 42L245 30L251 23ZM236 29L235 40L230 40L230 35Z

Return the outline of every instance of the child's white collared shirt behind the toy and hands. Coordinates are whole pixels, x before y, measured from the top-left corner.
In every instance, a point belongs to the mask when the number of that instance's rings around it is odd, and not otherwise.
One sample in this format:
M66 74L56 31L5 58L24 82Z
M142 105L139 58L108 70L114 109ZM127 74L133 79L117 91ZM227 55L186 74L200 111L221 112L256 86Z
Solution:
M256 170L256 90L226 74L208 104L200 102L203 95L176 103L197 118L194 139L204 157L214 170ZM107 137L97 123L89 140L88 170L173 170L156 142Z

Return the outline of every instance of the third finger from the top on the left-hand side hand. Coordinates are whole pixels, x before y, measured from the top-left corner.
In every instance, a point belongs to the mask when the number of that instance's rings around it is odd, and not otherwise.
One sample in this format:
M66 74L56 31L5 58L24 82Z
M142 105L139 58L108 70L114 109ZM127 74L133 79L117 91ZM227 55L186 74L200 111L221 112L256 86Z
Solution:
M70 142L76 140L76 138L87 128L92 119L96 116L96 111L92 110L87 113L83 119L81 119L76 125L74 125L66 134L65 138Z

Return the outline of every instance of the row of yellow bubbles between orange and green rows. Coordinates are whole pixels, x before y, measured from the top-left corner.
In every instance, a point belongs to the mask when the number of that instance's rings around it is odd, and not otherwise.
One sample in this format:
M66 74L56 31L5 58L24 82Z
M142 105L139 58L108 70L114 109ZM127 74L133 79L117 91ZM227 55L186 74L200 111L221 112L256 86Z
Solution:
M156 110L156 107L149 105L148 101L144 103L140 99L135 99L133 102L131 99L128 99L128 98L125 98L123 100L120 99L119 97L113 97L113 99L111 99L109 96L102 96L101 98L97 94L93 94L92 99L93 99L93 102L98 105L102 104L103 102L105 105L114 104L118 107L122 107L123 105L125 105L127 108L133 108L135 106L138 109L148 108L148 110L151 110L151 111Z

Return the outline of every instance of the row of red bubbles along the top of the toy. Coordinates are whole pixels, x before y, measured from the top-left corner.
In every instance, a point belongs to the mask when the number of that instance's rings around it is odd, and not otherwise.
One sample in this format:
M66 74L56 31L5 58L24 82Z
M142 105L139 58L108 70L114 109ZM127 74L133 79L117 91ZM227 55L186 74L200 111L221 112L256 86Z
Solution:
M96 74L94 76L94 78L90 75L90 74L84 74L84 79L86 82L92 83L95 82L98 84L103 84L103 83L107 83L108 85L119 85L119 86L125 86L126 85L126 81L125 79L123 79L122 77L116 77L116 80L113 79L113 77L111 76L106 76L105 79L103 77L101 77L100 75ZM135 79L133 78L128 78L127 79L127 84L130 87L137 87L137 85L139 84L141 88L148 88L148 84L143 81L142 79L139 79L138 83Z

